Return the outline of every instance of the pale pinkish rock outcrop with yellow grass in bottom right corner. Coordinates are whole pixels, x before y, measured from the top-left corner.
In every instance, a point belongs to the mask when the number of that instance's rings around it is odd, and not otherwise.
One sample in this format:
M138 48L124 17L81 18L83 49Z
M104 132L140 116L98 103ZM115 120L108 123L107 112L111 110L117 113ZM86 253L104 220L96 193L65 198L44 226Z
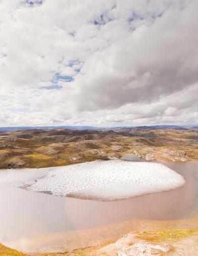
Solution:
M99 249L95 255L194 256L197 255L197 250L198 230L156 230L129 233Z

